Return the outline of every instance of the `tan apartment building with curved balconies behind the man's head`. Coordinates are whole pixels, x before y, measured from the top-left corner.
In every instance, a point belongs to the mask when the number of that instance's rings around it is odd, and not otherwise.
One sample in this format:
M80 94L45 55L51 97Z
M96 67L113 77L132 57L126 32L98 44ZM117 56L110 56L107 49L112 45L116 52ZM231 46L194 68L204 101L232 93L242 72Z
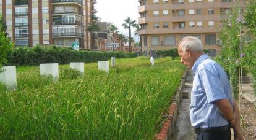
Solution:
M239 1L239 0L236 0ZM228 18L233 0L139 0L142 51L176 48L182 38L194 36L208 49L220 52L218 27ZM239 1L242 7L244 3Z

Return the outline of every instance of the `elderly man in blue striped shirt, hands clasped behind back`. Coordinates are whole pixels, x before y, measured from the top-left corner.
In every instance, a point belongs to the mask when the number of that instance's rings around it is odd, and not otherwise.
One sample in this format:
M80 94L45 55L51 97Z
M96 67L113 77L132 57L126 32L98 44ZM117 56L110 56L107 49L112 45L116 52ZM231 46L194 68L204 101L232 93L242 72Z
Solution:
M235 138L242 139L239 112L224 69L203 53L202 42L195 37L182 39L178 53L181 63L194 74L190 120L197 139L231 139L230 127Z

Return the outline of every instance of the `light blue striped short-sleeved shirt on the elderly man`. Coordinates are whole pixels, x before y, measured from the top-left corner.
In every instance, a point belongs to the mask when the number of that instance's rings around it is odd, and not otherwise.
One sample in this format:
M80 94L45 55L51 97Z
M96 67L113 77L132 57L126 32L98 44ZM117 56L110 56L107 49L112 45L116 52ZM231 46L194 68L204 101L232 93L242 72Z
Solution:
M209 128L228 125L221 115L216 100L228 98L233 106L233 98L228 77L221 66L201 55L192 67L194 73L191 91L190 120L196 128Z

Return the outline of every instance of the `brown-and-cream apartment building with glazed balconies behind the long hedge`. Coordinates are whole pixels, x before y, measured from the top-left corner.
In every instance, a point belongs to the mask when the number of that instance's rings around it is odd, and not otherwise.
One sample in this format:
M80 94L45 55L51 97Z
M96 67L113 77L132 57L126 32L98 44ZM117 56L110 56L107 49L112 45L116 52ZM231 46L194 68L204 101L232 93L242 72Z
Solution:
M70 47L79 41L90 49L86 27L97 21L96 0L1 0L0 12L16 46L55 44Z

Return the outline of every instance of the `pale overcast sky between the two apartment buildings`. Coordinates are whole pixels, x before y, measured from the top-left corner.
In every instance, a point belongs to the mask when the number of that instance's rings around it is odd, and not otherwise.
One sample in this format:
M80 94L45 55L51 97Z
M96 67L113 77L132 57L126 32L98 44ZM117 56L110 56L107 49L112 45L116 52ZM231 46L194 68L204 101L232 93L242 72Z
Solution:
M110 22L117 26L119 33L128 36L128 29L124 29L122 23L127 17L135 20L138 23L138 0L97 0L95 9L98 11L95 15L101 18L101 22ZM132 37L134 36L135 28L132 28Z

